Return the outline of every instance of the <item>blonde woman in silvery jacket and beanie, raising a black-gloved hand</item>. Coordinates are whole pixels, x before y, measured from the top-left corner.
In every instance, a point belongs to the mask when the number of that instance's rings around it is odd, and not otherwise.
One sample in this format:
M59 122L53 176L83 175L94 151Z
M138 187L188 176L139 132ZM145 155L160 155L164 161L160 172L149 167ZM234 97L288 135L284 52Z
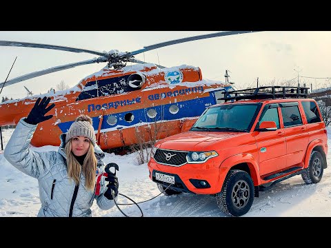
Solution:
M48 103L50 98L46 97L36 101L28 117L17 124L4 151L9 163L38 179L41 200L38 216L92 216L90 207L94 199L101 209L112 208L119 182L117 176L104 171L105 154L96 144L89 116L79 116L68 132L61 134L57 152L29 149L37 124L52 118L45 116L54 107L54 103L47 107Z

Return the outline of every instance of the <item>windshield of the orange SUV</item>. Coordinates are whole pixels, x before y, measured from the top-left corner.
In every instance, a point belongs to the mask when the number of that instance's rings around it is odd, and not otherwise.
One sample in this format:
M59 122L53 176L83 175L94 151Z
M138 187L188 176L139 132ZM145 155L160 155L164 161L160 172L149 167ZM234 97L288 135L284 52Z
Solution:
M260 104L229 104L210 107L190 130L248 132L259 112Z

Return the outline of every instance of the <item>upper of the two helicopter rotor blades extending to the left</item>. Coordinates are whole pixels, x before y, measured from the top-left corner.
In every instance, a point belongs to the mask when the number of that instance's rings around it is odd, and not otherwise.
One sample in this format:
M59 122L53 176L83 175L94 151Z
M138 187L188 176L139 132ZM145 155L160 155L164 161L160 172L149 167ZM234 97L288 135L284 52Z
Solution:
M0 46L16 46L16 47L25 47L25 48L43 48L50 50L61 50L66 52L86 52L90 54L96 54L99 56L105 56L104 52L98 52L93 50L86 50L80 48L69 48L61 45L48 45L48 44L40 44L40 43L29 43L29 42L19 42L19 41L0 41Z

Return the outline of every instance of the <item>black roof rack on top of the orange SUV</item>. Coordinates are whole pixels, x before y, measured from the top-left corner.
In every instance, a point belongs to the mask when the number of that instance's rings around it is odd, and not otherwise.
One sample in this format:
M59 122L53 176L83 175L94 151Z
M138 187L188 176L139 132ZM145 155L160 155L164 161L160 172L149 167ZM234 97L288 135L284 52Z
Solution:
M239 101L243 99L307 98L308 89L309 87L263 86L225 92L224 97L217 100L225 100L226 103L227 101Z

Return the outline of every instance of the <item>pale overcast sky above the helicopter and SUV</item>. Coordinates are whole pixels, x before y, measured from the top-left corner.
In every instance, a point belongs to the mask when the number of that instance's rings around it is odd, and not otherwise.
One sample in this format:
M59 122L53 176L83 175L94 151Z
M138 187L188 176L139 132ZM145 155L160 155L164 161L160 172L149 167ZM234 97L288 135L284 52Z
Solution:
M109 52L131 52L164 41L220 31L0 31L0 40L63 45L73 48ZM204 79L224 81L225 70L237 88L270 85L284 81L306 83L308 87L330 87L331 31L264 31L190 41L151 50L135 56L166 67L199 66ZM0 83L6 80L15 57L17 61L8 77L84 61L94 54L45 50L39 48L0 47ZM128 63L130 65L130 63ZM14 99L27 95L23 86L34 94L46 93L64 81L70 87L85 76L101 70L106 63L39 76L3 88L1 96ZM311 79L312 78L312 79ZM321 78L321 79L314 79Z

